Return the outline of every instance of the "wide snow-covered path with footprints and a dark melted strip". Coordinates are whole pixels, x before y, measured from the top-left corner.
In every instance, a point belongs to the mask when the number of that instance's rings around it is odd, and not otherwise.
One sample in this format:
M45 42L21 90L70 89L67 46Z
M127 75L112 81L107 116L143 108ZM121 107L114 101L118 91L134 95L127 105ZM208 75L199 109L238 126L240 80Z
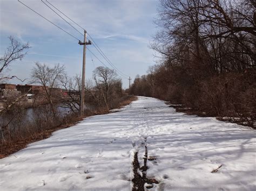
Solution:
M131 190L145 146L146 176L159 182L150 190L256 190L255 140L254 130L139 97L1 159L0 190Z

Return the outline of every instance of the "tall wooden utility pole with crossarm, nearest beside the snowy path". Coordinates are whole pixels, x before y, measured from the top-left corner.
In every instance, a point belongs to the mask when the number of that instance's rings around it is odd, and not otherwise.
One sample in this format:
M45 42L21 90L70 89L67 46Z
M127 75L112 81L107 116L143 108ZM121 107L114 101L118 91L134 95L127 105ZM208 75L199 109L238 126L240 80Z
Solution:
M91 45L91 41L86 42L86 31L84 30L84 42L82 43L80 40L78 42L79 45L84 45L84 53L83 53L83 70L82 70L82 88L81 88L81 102L80 102L80 116L84 115L84 86L85 86L85 59L86 59L86 45Z

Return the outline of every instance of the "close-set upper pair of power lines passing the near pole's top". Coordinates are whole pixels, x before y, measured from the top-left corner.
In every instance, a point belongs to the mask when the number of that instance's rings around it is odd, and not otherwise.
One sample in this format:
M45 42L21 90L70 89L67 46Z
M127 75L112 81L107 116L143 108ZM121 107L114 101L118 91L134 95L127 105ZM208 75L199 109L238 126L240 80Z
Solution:
M42 1L42 0L41 0ZM49 1L45 0L47 3L49 3L51 6L53 6L53 8L55 8L56 10L58 10L60 13L62 13L66 18L70 19L73 23L75 23L78 27L80 27L81 29L85 30L82 26L80 26L78 23L76 23L74 20L72 20L70 17L68 17L67 15L65 15L65 13L63 11L60 11L58 8L56 8L56 6L54 6L53 4L51 4ZM43 2L43 1L42 1ZM44 3L44 2L43 2ZM54 11L55 12L55 11ZM57 15L59 16L59 14L57 13ZM61 17L61 16L60 16ZM63 17L61 17L63 18ZM63 18L63 20L65 20ZM69 25L70 23L68 21L65 20L65 22L67 22ZM72 26L73 27L73 26ZM75 29L75 27L73 27ZM77 30L77 29L76 29ZM77 30L78 31L78 30ZM93 46L97 49L97 51L103 56L103 58L110 64L110 66L113 67L113 69L117 70L117 72L124 76L124 77L128 77L127 75L125 75L124 73L122 73L116 66L113 65L113 63L107 58L107 56L103 53L103 51L100 49L100 47L97 45L97 43L93 40L93 38L90 36L90 34L87 32L87 34L89 35L89 37L91 38L92 42L93 42ZM83 35L83 34L82 34Z

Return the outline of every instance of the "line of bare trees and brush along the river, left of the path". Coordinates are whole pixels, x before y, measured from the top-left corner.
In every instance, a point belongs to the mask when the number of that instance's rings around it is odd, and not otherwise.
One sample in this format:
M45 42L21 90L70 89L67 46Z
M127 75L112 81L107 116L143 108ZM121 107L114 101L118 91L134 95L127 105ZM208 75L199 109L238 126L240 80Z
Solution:
M10 46L0 58L0 83L19 79L18 75L8 75L8 69L15 61L22 60L30 48L29 43L22 44L14 37L9 39ZM0 108L1 153L10 150L9 147L18 141L42 139L48 131L86 116L106 114L131 101L131 97L124 93L117 73L103 66L95 68L92 79L86 80L85 116L79 116L82 77L69 76L64 65L36 62L29 83L40 86L40 90L33 94L32 103L29 104L27 98L31 88L21 94L0 98L4 105Z

